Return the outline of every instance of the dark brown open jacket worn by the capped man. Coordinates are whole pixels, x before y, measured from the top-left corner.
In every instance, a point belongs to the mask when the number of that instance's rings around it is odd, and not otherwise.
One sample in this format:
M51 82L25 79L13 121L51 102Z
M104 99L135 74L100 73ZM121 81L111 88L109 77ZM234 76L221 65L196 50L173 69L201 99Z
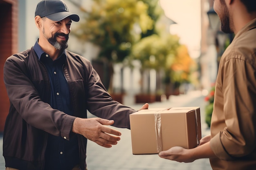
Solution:
M4 83L10 109L4 126L3 155L6 166L19 170L42 170L47 135L69 140L76 117L87 117L87 110L97 117L115 120L113 126L130 128L129 114L136 112L113 101L88 60L66 51L63 72L67 79L74 116L49 105L50 86L47 70L33 47L12 55L4 64ZM78 135L82 170L86 163L87 139Z

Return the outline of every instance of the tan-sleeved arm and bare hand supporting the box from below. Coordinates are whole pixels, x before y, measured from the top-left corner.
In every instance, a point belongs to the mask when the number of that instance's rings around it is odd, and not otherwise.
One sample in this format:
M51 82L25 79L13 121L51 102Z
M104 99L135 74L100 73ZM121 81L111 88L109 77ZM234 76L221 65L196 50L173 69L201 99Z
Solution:
M235 68L239 70L234 70ZM234 160L249 155L252 148L255 148L256 79L254 68L243 60L233 59L227 62L223 69L226 72L225 77L221 78L224 80L224 92L222 94L218 89L220 85L217 84L216 97L224 95L224 101L221 102L224 103L226 127L206 144L200 144L197 148L189 150L173 147L160 152L160 157L179 162L192 162L195 159L209 157ZM244 79L246 83L241 83L241 79ZM220 101L216 100L216 102ZM212 121L214 121L213 118Z

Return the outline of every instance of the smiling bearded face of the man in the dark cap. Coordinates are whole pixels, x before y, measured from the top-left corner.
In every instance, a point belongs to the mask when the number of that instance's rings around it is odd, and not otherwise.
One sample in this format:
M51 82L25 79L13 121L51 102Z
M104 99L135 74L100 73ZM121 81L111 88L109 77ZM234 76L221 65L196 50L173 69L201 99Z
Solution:
M61 21L52 21L48 18L44 18L43 20L43 36L55 49L66 49L72 21L69 18L65 18Z

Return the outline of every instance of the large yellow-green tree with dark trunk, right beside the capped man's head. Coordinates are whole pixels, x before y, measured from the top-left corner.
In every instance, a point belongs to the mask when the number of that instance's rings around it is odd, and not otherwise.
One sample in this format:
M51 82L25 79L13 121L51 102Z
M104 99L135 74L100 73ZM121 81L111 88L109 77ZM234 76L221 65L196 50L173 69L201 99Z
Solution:
M123 62L141 33L151 30L153 24L148 5L143 1L94 0L90 11L83 10L80 24L73 33L79 40L100 47L97 60L104 60L104 64L107 62L110 66L107 78L110 87L108 82L104 85L112 92L113 63Z

